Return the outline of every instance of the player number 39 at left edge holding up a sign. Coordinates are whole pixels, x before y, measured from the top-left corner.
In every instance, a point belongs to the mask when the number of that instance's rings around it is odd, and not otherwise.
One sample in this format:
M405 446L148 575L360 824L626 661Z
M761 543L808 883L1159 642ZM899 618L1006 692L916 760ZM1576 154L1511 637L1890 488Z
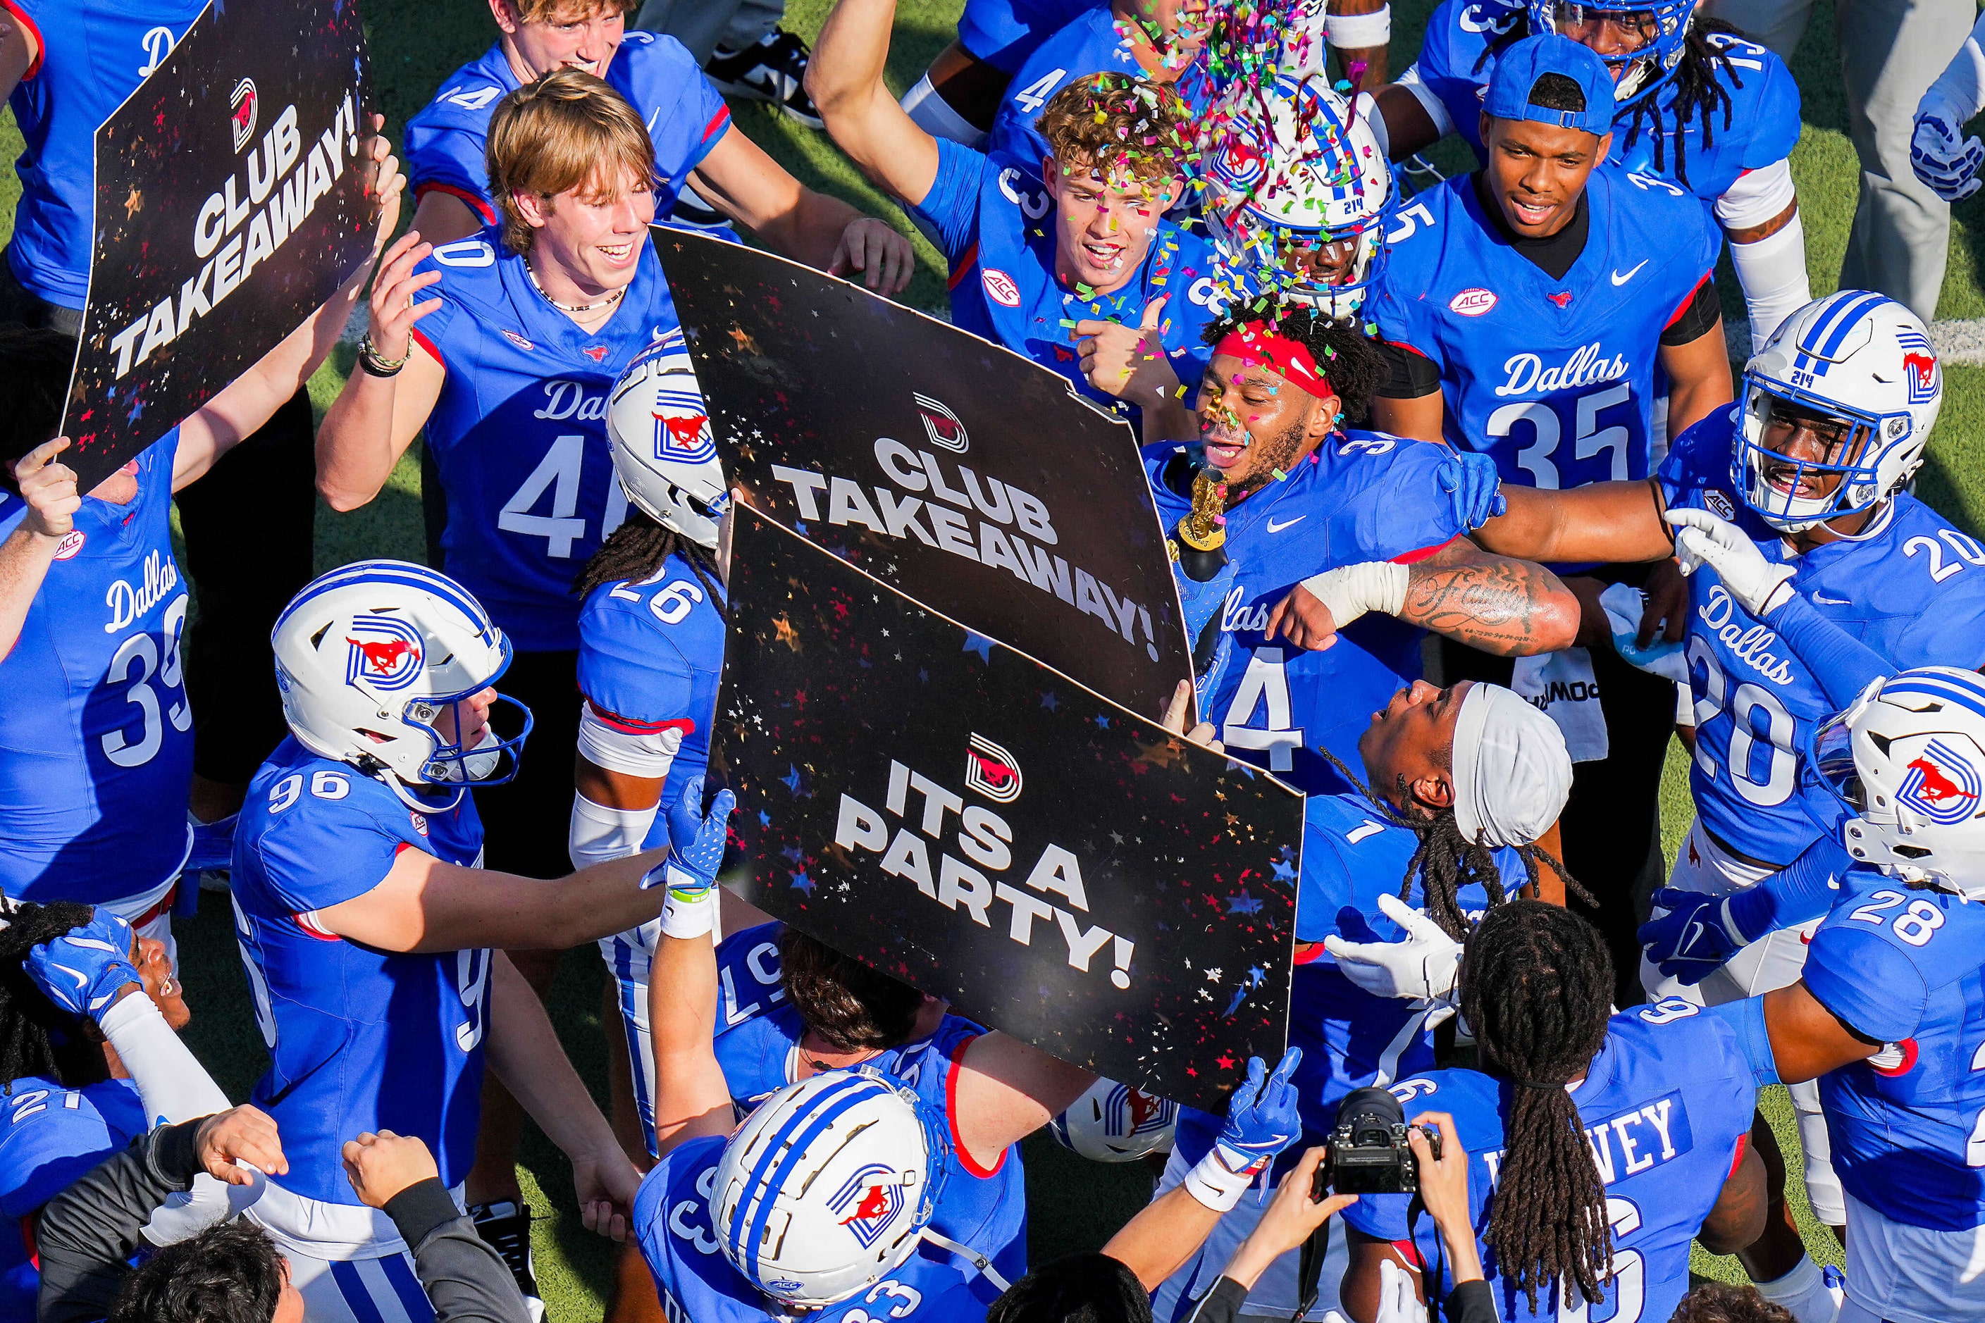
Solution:
M399 220L399 165L373 139L379 242ZM377 256L377 250L375 250ZM330 357L371 260L232 385L107 476L62 462L71 341L0 339L10 409L0 488L0 891L115 910L173 956L171 906L191 849L193 710L181 666L191 599L173 553L173 492L206 474Z

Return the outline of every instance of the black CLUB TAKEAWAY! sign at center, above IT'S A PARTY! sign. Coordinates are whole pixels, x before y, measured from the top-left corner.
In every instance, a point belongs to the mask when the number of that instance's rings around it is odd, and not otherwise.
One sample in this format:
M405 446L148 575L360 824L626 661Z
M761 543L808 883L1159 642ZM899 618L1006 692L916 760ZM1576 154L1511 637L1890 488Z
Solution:
M1062 377L772 254L655 230L730 480L955 621L1157 712L1191 674L1137 440Z

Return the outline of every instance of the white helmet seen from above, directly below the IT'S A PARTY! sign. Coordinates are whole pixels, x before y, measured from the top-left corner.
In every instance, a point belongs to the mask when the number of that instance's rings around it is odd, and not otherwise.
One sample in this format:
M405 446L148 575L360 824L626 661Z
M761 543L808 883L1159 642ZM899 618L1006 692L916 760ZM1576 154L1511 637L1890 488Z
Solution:
M711 1224L725 1258L788 1305L848 1299L917 1250L945 1144L917 1095L873 1069L780 1089L717 1162Z

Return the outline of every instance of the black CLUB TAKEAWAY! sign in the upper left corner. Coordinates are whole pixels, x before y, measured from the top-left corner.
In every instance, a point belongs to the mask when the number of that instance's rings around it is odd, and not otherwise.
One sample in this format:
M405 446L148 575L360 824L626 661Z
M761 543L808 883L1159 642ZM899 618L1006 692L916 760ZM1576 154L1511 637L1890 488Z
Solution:
M62 456L89 490L357 270L371 79L355 0L212 4L97 129Z

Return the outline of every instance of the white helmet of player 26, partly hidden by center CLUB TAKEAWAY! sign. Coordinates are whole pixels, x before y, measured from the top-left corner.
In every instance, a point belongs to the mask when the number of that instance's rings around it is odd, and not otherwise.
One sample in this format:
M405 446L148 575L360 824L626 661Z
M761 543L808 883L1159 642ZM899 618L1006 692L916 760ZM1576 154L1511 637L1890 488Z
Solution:
M627 500L663 528L717 547L717 522L730 508L730 490L681 331L637 353L613 383L607 442Z

